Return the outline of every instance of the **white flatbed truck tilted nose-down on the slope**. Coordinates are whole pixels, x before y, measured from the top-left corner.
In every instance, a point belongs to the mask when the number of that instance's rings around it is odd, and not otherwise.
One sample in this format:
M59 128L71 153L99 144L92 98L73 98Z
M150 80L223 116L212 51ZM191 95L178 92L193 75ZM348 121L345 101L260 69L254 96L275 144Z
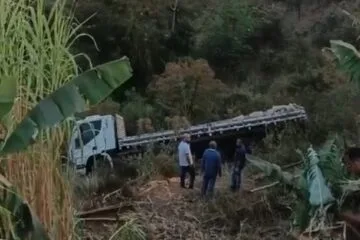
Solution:
M105 159L113 166L112 157L121 152L138 148L150 143L163 143L177 140L180 134L189 133L199 140L209 136L240 134L241 130L267 127L282 122L307 119L306 111L296 104L274 106L266 111L249 115L191 126L180 131L166 130L136 136L126 136L124 120L119 115L93 115L76 122L68 146L68 159L77 171L90 172L95 159Z

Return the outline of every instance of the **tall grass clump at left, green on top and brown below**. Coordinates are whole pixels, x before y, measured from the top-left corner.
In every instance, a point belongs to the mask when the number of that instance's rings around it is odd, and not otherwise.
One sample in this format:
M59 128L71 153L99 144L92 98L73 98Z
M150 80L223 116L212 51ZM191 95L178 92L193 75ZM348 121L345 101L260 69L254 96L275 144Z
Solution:
M6 128L11 129L36 103L77 74L70 53L80 24L56 1L48 14L45 0L0 1L0 79L18 84L17 100ZM46 113L44 113L46 114ZM71 239L72 190L60 170L65 129L43 133L24 153L2 159L5 174L30 203L53 239Z

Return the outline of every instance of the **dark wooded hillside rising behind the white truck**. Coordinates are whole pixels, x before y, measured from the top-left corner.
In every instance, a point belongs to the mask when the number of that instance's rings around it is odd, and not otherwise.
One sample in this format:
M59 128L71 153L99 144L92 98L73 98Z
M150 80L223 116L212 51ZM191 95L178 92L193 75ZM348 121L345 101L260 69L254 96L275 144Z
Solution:
M356 132L357 94L322 50L331 39L356 45L358 30L345 11L352 13L357 4L81 1L78 19L96 13L84 30L99 51L84 41L79 47L94 62L131 56L135 72L128 86L134 90L112 96L124 102L129 134L137 132L134 122L141 118L151 121L150 130L161 129L166 117L194 124L296 102L314 120L309 133L320 143L329 130Z

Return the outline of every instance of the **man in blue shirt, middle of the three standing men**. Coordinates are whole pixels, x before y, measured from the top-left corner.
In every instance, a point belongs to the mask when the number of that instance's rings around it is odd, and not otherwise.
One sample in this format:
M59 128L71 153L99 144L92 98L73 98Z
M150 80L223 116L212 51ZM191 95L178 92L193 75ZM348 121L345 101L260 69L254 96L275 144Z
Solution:
M203 185L201 194L205 196L207 193L210 195L214 192L216 177L221 177L221 157L220 153L216 150L217 144L215 141L209 143L209 148L205 150L201 170L204 174Z

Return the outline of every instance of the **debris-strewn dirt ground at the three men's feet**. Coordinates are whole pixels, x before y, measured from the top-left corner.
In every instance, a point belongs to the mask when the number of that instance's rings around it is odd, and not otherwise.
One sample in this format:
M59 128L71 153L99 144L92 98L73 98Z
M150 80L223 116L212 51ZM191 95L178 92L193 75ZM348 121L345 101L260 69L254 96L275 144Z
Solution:
M85 239L109 239L129 219L136 219L147 239L154 240L293 239L289 200L281 188L256 191L255 180L245 176L243 191L231 193L229 179L218 179L210 200L200 197L200 177L193 190L180 188L175 177L91 198L79 213Z

